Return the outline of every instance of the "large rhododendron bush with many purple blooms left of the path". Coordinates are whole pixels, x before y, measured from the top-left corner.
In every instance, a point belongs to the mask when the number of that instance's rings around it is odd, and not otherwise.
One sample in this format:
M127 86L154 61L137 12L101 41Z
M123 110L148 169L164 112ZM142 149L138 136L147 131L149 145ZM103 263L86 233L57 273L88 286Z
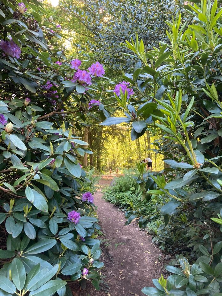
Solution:
M61 25L37 0L0 3L0 294L71 295L66 280L98 288L99 226L80 163L92 151L76 129L107 114L104 68L67 59Z

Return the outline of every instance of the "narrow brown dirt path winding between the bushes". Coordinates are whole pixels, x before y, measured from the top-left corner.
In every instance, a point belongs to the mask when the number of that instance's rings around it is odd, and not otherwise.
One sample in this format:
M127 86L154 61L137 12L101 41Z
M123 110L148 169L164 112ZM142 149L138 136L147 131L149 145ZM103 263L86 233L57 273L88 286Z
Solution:
M142 296L141 289L153 286L152 279L161 274L163 255L152 244L151 236L136 223L125 226L124 213L102 199L102 189L112 183L114 176L120 174L103 175L94 195L101 225L101 261L105 264L101 290L94 290L91 284L82 291L75 286L74 296Z

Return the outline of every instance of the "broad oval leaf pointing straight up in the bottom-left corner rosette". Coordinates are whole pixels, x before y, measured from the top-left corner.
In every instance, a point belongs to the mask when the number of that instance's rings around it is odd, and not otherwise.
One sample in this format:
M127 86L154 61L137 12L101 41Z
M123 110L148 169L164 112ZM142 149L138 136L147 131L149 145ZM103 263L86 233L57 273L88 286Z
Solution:
M11 276L14 285L21 291L25 285L26 271L22 261L18 258L14 258L11 263Z

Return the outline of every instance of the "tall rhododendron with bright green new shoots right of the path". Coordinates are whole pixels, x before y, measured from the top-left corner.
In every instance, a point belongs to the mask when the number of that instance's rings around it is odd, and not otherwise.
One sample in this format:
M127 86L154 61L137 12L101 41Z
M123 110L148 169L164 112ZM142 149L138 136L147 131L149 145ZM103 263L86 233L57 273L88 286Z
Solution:
M192 24L177 14L167 22L169 43L144 51L142 40L126 42L141 66L126 73L117 101L126 117L103 124L132 125L131 138L147 127L162 132L156 143L169 166L152 176L156 189L144 195L162 198L165 225L185 229L192 248L171 275L154 279L146 295L221 295L221 14L217 1L186 5ZM130 97L134 91L137 97ZM166 176L167 174L167 176ZM218 218L219 217L219 218Z

